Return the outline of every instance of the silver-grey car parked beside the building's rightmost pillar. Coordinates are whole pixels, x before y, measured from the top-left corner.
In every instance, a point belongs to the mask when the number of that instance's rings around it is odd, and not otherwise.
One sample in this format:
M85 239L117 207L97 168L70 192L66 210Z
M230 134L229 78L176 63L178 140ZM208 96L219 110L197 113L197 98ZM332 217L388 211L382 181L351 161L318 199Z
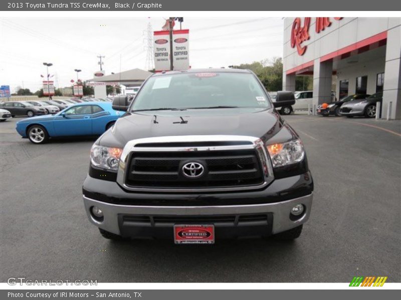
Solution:
M348 117L364 115L365 117L376 116L376 102L383 99L383 92L376 92L364 99L352 100L344 103L340 108L340 114Z

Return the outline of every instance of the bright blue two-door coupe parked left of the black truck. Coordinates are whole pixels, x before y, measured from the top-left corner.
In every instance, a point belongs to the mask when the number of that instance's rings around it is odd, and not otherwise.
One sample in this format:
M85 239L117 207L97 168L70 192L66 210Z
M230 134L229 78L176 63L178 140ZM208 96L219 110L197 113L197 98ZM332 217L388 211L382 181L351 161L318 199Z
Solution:
M100 135L122 114L111 102L82 102L56 114L34 116L17 122L17 131L33 143L45 143L51 137Z

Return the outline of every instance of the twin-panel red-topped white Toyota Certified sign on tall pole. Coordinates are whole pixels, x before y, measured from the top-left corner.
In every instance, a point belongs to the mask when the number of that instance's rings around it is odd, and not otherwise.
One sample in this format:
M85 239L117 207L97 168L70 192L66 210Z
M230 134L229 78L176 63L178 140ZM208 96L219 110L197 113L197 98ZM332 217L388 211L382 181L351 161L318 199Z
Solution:
M154 31L153 37L155 70L167 71L170 69L169 31ZM174 70L189 69L189 29L172 31L172 56Z

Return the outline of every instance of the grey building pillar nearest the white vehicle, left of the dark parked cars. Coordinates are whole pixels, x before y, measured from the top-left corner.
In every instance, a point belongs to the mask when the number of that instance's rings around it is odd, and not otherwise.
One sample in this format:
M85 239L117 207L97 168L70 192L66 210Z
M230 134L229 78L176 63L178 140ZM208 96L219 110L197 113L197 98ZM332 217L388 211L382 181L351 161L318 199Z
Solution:
M331 76L333 61L320 62L316 58L313 63L313 105L331 102Z

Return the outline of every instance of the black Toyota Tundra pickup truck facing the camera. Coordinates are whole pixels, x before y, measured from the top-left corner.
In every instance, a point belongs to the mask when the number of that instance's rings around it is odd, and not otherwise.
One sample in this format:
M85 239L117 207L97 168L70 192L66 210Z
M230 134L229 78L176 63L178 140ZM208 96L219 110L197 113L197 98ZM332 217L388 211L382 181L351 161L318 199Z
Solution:
M83 200L110 239L301 234L313 180L294 129L256 75L240 69L155 73L93 144Z

